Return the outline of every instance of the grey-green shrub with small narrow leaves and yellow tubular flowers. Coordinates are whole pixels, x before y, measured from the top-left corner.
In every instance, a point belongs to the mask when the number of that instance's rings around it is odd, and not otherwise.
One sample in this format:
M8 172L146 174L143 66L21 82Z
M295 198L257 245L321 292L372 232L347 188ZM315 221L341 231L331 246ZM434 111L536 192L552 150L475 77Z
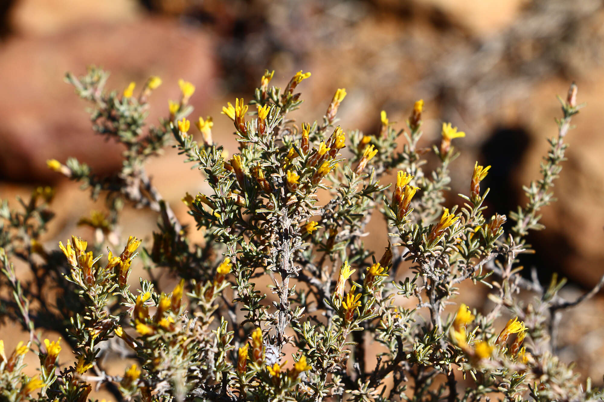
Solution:
M97 68L66 76L91 104L95 132L123 145L123 167L100 177L73 158L48 161L106 200L106 212L80 221L94 228L94 238L72 237L60 250L39 241L53 216L53 190L19 199L18 210L2 202L1 285L10 290L2 313L30 332L14 351L0 343L2 400L86 401L92 384L118 400L141 401L602 397L590 380L580 386L556 356L560 312L601 283L565 301L557 295L564 280L554 275L542 286L518 266L518 255L530 250L525 236L542 229L539 210L553 200L564 138L582 107L576 86L561 100L541 179L525 188L527 204L507 219L484 216L489 190L480 182L490 167L478 162L467 193L459 194L463 203L443 208L458 156L453 140L464 133L443 124L440 144L420 148L423 101L407 129L382 112L377 135L344 133L336 116L346 92L338 89L321 121L298 126L288 115L300 107L297 87L310 73L298 72L283 90L269 86L272 75L265 72L249 103L223 107L239 141L231 157L214 141L210 117L194 121L202 141L191 135L190 83L179 81L181 99L147 128L158 77L135 97L134 83L106 92L108 74ZM182 199L204 233L201 244L189 240L190 228L146 174L147 160L174 143L211 188ZM426 158L434 170L423 169ZM384 182L394 172L396 182ZM124 205L158 212L152 243L117 235ZM383 254L363 242L376 213L390 236ZM33 281L16 278L13 259L30 267ZM135 259L149 272L138 289L129 283ZM173 290L162 289L158 270L179 280ZM266 282L269 295L260 286ZM490 307L458 304L461 282L467 292L487 294ZM533 298L523 302L521 292ZM41 329L61 337L42 340ZM73 354L59 359L65 345ZM29 349L40 358L33 378L23 372ZM132 359L121 375L105 363L116 354Z

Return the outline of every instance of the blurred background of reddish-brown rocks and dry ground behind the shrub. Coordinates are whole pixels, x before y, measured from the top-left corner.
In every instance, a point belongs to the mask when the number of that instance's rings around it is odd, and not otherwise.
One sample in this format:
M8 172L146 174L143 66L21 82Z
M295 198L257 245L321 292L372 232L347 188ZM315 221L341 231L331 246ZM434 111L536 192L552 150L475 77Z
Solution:
M530 236L536 255L522 261L545 281L552 272L569 278L565 292L575 297L604 273L603 23L600 0L4 0L0 199L16 206L14 196L52 185L57 216L48 247L71 234L92 236L76 223L102 205L45 161L76 156L107 174L120 167L120 150L92 135L87 105L63 82L66 71L103 66L112 72L108 88L120 91L159 75L164 84L152 95L149 124L167 115L168 98L178 98L178 78L191 81L192 117L214 116L215 141L233 153L231 122L219 114L226 101L248 100L265 68L275 70L276 86L303 69L312 77L298 87L305 100L298 121L321 119L345 87L342 128L376 133L380 110L402 128L423 98L423 145L440 137L443 121L466 132L455 143L462 156L452 166L452 194L467 193L475 161L492 165L483 185L492 188L487 212L507 214L525 202L522 185L539 177L545 139L556 135L553 119L561 116L555 96L576 81L588 106L573 120L558 202L542 210L547 230ZM170 150L149 172L191 223L180 199L204 190L198 171ZM126 237L149 239L156 215L127 210L122 223ZM374 240L376 249L386 238ZM602 299L593 299L569 311L561 328L562 357L597 380L603 313Z

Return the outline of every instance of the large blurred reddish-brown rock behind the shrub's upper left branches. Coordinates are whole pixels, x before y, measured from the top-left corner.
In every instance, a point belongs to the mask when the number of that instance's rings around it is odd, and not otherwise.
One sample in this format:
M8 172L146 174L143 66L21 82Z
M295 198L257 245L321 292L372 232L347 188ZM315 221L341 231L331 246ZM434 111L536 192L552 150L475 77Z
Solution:
M28 57L24 57L28 55ZM63 82L66 71L87 65L112 72L108 89L149 75L164 78L152 95L149 123L167 114L167 98L178 99L176 81L196 85L193 106L213 92L214 59L207 34L176 22L149 18L128 25L86 25L48 37L13 37L0 53L0 178L40 181L56 178L45 161L76 156L98 171L118 168L119 152L91 136L86 104Z

